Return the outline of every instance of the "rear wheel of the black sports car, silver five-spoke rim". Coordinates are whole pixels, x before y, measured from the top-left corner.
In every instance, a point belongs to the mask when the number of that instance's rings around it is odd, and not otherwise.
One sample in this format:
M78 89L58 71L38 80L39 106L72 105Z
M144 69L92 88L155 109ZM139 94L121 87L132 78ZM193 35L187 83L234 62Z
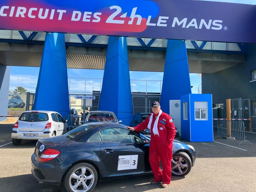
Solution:
M97 181L97 171L88 163L78 163L72 166L63 180L67 192L90 192L96 186Z

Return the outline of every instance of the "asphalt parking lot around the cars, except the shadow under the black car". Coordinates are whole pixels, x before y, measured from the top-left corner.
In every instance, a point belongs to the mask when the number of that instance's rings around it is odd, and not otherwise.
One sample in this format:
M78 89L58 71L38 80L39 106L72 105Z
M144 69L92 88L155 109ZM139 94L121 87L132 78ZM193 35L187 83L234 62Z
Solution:
M36 141L12 145L13 124L0 124L0 192L64 192L61 186L37 184L31 174L30 157ZM168 188L151 185L153 176L137 176L96 185L94 191L181 191L181 192L253 192L256 188L256 134L246 133L247 140L185 142L198 153L195 166L184 178L172 176ZM232 147L234 146L234 147Z

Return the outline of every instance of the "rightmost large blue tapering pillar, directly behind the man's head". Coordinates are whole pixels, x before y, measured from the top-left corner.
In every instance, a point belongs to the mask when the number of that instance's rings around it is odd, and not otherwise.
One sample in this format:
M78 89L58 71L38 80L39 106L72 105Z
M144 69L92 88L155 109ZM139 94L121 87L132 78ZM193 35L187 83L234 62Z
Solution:
M183 40L168 40L160 105L165 113L170 113L170 100L180 100L180 96L191 94L188 71L188 56Z

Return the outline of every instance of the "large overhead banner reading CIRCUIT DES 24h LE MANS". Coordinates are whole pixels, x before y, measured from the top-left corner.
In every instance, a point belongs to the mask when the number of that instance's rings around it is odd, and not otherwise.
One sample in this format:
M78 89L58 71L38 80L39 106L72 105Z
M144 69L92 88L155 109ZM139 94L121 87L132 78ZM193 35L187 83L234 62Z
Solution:
M205 0L1 0L0 28L256 43L256 6Z

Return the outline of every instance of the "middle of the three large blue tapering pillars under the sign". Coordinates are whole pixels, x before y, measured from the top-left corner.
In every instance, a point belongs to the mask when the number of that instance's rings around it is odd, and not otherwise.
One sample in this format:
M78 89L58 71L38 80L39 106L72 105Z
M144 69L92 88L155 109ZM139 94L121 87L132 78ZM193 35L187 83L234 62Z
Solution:
M113 111L122 124L133 118L129 61L125 37L110 36L98 110Z

